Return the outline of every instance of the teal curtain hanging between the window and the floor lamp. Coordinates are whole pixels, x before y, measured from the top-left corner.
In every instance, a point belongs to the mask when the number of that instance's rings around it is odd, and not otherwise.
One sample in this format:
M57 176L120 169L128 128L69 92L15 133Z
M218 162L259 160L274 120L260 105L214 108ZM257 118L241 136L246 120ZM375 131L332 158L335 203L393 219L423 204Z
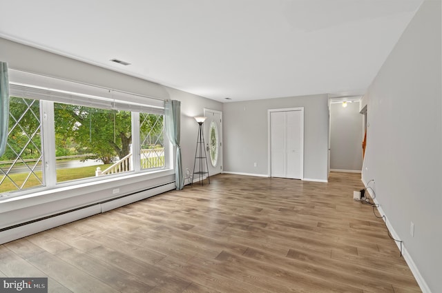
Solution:
M182 174L180 127L181 127L181 102L176 100L164 101L164 117L166 119L166 135L173 146L177 149L177 161L175 163L175 185L177 190L184 188L184 176Z

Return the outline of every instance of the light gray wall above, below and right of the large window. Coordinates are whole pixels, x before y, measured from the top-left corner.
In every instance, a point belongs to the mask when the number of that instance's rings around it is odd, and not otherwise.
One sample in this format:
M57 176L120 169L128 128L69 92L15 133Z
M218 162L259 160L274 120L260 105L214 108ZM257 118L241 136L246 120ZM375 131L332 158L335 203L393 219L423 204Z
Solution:
M217 101L61 57L6 39L0 38L0 48L0 60L8 62L9 67L13 69L99 85L104 88L133 92L149 97L182 101L181 145L184 170L186 168L193 169L193 158L195 156L198 124L191 117L203 114L204 108L222 110L222 103ZM170 183L171 181L175 181L173 171L149 176L139 174L131 179L106 180L106 182L93 187L85 185L74 190L65 188L58 192L44 192L41 196L29 194L20 196L20 199L6 199L1 201L0 204L0 228L104 201L115 197L112 189L116 187L120 190L117 196L122 196ZM164 188L162 192L164 192Z

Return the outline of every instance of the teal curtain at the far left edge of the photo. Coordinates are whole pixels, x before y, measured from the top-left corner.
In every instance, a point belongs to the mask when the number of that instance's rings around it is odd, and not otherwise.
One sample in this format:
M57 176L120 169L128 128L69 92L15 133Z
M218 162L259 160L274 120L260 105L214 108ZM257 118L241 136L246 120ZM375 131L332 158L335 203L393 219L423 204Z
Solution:
M0 62L0 156L3 156L8 142L9 78L8 63Z

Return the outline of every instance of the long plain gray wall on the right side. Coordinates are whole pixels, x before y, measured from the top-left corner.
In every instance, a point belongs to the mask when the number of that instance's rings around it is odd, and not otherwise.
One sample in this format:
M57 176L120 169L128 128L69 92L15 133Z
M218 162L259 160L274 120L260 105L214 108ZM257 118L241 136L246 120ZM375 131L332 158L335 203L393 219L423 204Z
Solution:
M363 180L431 292L442 292L441 78L441 1L424 1L367 92Z

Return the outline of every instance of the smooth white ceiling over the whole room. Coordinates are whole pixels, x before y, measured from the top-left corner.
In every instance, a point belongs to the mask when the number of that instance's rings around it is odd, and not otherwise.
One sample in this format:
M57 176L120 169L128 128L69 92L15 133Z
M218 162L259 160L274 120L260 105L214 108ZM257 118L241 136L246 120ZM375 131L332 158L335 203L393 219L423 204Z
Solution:
M422 2L0 0L0 37L222 102L340 97L365 93Z

